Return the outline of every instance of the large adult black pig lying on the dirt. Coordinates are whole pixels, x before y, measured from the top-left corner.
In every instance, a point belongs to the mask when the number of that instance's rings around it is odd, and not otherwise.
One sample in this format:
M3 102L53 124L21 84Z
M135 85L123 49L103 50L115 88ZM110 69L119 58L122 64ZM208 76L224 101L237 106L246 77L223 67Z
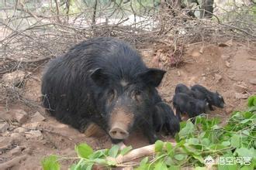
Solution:
M137 127L154 143L154 105L161 102L156 87L164 73L147 68L137 51L119 39L89 39L49 63L42 80L43 105L81 131L98 124L113 143Z

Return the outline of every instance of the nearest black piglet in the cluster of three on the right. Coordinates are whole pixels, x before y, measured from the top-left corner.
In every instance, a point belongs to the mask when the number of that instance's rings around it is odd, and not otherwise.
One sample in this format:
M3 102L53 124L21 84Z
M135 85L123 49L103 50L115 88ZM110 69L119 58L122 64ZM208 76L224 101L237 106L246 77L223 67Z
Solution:
M172 102L179 121L182 121L181 114L188 114L191 118L206 113L209 109L208 103L205 100L189 97L186 93L175 93Z

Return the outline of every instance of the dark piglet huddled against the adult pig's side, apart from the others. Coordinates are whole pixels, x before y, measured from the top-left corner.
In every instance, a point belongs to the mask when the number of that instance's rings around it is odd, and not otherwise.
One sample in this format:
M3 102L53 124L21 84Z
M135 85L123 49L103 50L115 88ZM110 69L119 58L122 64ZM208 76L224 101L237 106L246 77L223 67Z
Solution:
M168 104L159 102L154 107L154 129L155 131L163 131L166 134L175 134L180 130L178 117L175 116L173 110Z

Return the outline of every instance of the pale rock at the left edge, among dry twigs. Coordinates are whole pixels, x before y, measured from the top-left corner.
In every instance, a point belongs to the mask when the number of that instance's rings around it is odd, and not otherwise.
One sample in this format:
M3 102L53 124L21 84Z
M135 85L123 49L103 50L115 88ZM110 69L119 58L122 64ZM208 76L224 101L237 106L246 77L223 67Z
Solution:
M26 73L22 70L16 70L12 73L5 73L2 76L2 81L6 86L19 86L20 83L24 80Z

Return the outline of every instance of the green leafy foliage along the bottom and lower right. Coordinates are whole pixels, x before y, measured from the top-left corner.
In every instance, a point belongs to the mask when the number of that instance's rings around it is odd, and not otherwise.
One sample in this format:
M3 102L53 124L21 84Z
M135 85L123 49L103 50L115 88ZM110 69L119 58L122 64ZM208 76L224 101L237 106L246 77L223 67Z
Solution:
M181 123L181 131L175 136L175 145L170 142L156 141L154 155L142 158L133 164L137 170L143 169L180 169L193 167L206 169L211 165L217 169L255 169L256 168L256 96L248 99L245 111L234 111L221 125L220 118L209 119L206 115ZM113 145L110 149L93 151L87 144L75 146L78 161L71 165L72 170L92 169L93 165L112 168L126 166L116 158L128 154L132 147L119 149ZM58 160L61 156L50 155L42 161L44 170L61 168ZM233 163L227 162L233 160ZM229 165L230 164L230 165ZM131 164L129 164L130 166Z

